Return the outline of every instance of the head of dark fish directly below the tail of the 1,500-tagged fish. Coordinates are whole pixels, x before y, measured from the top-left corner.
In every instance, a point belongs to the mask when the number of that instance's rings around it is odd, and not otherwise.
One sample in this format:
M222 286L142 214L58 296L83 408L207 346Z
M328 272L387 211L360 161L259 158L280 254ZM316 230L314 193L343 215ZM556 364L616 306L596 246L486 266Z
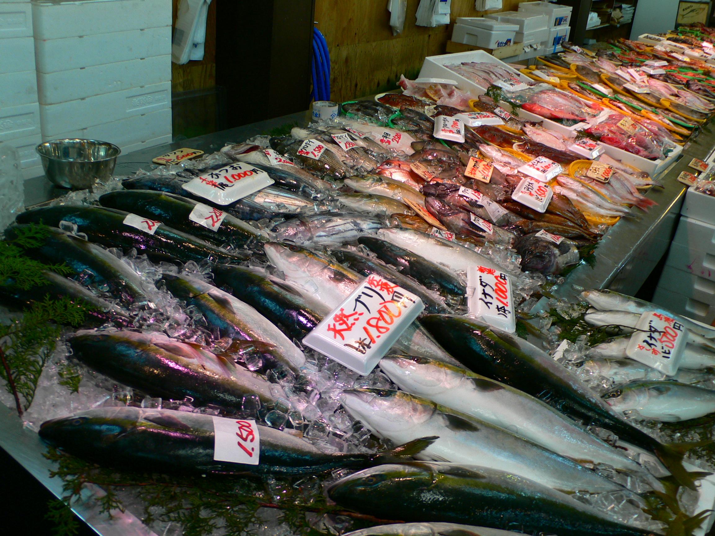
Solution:
M327 488L327 495L339 505L355 505L375 500L392 500L418 492L433 484L430 467L420 463L385 464L343 477Z

